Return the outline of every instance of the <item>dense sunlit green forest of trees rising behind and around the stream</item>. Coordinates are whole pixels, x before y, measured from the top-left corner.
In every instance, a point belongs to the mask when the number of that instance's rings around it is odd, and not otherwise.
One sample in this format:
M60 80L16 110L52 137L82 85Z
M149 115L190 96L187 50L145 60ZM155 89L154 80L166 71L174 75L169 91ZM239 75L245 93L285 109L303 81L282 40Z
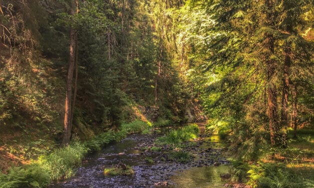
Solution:
M206 120L243 161L289 148L313 132L313 4L0 0L1 169L136 119Z

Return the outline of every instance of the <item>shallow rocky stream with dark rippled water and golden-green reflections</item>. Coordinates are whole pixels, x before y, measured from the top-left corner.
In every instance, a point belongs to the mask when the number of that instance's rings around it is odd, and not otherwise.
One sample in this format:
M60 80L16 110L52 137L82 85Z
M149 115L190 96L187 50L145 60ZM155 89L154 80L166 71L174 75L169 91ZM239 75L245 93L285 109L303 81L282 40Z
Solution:
M187 144L184 150L193 156L187 163L170 160L166 153L169 151L167 145L162 146L161 151L146 149L154 146L154 140L159 136L160 133L133 134L121 142L109 144L86 157L73 178L55 182L49 187L160 187L155 183L167 181L168 187L184 188L222 187L226 183L219 175L230 173L231 167L222 156L226 151L218 135L200 135ZM148 157L154 162L149 162ZM132 166L134 175L104 175L104 168L119 162Z

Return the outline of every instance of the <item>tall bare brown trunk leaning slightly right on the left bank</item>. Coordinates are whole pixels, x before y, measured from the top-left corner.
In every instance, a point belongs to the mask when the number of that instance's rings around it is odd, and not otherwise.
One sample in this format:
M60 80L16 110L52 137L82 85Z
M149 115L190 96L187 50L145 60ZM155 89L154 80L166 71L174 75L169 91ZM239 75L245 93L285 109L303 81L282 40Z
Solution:
M71 1L71 15L77 13L78 0ZM72 80L73 80L73 70L75 63L75 47L77 40L77 30L71 28L70 30L70 57L69 57L69 68L67 77L67 91L66 91L66 104L65 104L65 116L64 116L64 136L62 140L63 145L68 145L71 137L71 113L72 113Z

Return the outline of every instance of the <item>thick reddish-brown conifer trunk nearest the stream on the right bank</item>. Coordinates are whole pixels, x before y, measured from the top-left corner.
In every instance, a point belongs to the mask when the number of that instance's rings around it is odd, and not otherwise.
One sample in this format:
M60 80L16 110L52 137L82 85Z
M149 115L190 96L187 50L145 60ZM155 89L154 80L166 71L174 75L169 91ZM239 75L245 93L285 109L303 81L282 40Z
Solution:
M272 0L265 0L265 4L268 7L266 13L266 22L270 26L273 22L272 16ZM278 132L279 132L279 122L278 122L278 104L277 104L277 88L273 82L274 73L276 70L276 62L271 58L274 54L274 38L273 34L266 32L265 39L263 41L264 47L266 48L266 53L264 54L264 60L266 63L266 75L267 75L267 97L268 97L268 119L269 119L269 133L270 141L272 145L277 144Z

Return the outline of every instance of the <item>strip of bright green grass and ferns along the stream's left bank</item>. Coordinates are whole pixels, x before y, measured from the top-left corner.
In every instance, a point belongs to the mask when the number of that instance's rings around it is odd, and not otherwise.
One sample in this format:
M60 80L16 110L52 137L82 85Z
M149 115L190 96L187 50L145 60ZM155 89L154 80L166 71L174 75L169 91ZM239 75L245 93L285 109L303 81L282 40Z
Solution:
M74 141L66 147L57 148L50 154L41 155L30 164L11 167L7 174L0 173L0 188L46 187L53 180L69 178L75 174L75 168L81 164L88 152L100 150L110 142L119 141L127 134L142 132L148 127L146 122L135 120L122 124L120 131L110 130L88 141ZM130 169L120 173L129 174L132 171Z

